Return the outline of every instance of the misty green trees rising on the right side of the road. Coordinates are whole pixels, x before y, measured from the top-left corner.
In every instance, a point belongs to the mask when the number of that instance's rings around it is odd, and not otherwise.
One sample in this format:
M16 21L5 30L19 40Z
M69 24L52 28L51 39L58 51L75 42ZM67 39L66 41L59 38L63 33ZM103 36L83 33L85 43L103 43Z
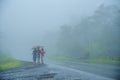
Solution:
M86 17L77 26L62 26L58 50L81 59L119 58L120 53L120 8L100 6L94 15Z

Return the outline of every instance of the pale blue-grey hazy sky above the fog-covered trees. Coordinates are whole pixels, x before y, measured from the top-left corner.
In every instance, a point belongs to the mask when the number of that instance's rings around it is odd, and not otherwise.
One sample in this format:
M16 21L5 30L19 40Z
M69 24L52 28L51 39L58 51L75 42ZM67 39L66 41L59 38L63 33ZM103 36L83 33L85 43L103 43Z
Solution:
M0 0L0 23L7 52L25 59L42 37L92 15L104 0ZM19 55L20 54L20 55ZM25 56L26 55L26 56Z

